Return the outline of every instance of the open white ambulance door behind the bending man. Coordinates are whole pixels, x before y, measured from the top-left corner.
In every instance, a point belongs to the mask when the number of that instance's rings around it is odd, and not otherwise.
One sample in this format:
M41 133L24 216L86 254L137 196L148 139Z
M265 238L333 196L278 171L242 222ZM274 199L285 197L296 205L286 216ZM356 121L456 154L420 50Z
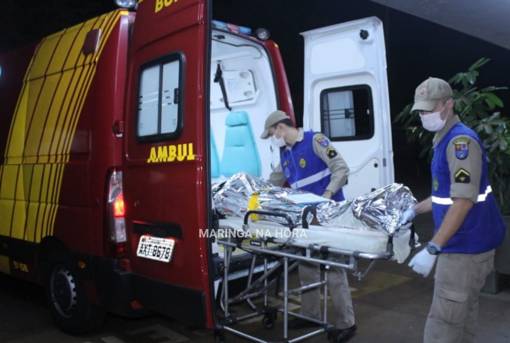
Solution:
M370 17L301 35L303 127L324 133L347 162L346 199L394 182L382 22Z

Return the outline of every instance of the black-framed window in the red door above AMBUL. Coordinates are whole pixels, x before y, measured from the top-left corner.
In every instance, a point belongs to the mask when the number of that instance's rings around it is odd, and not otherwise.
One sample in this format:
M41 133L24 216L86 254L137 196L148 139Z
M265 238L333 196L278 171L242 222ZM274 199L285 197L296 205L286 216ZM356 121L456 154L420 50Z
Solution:
M181 59L144 66L140 72L137 137L163 140L181 129Z

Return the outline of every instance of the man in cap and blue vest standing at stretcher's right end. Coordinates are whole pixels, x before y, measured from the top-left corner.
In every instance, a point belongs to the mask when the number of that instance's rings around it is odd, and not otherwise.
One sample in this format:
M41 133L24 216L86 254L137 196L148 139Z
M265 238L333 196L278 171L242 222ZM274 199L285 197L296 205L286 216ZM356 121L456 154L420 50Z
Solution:
M402 222L432 212L435 230L409 266L427 276L437 259L434 294L424 342L474 342L478 295L494 267L494 249L504 238L478 135L453 114L450 85L428 78L418 86L412 111L436 133L431 165L432 196L408 209Z

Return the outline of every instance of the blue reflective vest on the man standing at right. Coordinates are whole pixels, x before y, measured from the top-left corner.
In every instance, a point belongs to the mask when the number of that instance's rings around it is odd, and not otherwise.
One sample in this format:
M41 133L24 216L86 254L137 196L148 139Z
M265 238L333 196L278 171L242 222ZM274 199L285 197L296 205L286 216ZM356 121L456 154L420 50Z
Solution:
M503 242L505 236L505 223L501 218L496 199L492 193L489 177L487 175L487 159L482 142L478 135L463 123L456 123L434 148L434 158L431 164L432 171L432 215L437 232L445 214L453 203L450 196L450 170L446 156L446 148L450 141L458 136L466 135L476 140L482 151L482 171L478 203L474 204L458 231L442 248L442 252L479 254L492 250ZM462 157L465 151L458 147L458 156Z

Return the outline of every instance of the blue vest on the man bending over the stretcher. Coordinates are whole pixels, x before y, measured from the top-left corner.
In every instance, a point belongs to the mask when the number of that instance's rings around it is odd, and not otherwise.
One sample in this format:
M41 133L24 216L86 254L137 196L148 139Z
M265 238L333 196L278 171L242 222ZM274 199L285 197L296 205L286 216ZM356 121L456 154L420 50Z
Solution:
M295 142L290 149L285 149L281 156L281 164L290 187L320 196L324 194L331 180L331 171L314 152L315 134L307 131L301 142ZM339 189L331 199L345 200L342 189Z

